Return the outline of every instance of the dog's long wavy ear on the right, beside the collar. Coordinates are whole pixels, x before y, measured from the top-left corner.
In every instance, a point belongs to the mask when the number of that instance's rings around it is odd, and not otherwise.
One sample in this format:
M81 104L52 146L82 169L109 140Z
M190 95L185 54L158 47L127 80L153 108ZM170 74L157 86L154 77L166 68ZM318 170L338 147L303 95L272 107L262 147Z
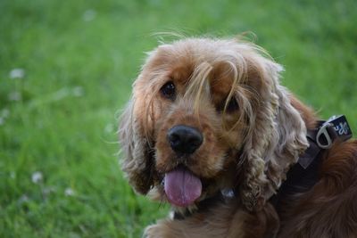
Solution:
M259 53L250 55L255 76L262 81L252 128L245 140L245 178L240 193L247 209L261 209L276 193L286 172L308 147L302 116L279 84L283 68ZM249 76L248 76L249 77ZM256 78L255 78L256 79Z

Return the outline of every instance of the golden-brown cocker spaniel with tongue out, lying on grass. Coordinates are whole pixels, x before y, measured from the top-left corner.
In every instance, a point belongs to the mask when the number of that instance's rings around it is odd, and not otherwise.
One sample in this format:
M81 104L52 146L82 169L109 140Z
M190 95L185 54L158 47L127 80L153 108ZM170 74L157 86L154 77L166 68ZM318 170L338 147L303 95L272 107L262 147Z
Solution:
M145 237L357 237L357 141L330 140L333 119L281 86L282 70L236 38L148 53L120 119L121 168L173 212Z

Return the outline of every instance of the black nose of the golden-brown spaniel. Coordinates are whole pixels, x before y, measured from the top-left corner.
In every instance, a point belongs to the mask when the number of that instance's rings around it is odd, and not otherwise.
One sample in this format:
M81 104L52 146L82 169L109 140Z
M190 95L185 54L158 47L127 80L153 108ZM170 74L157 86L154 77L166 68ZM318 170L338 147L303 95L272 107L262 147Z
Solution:
M177 153L193 153L203 142L199 130L181 125L170 128L167 138L172 150Z

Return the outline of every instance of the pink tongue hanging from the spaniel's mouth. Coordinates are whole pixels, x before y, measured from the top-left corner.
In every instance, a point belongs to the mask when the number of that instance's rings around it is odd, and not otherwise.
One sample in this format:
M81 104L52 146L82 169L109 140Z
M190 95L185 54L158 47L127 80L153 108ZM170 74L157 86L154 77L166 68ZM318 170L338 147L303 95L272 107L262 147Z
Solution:
M169 201L179 207L187 207L201 195L201 180L183 168L165 175L164 189Z

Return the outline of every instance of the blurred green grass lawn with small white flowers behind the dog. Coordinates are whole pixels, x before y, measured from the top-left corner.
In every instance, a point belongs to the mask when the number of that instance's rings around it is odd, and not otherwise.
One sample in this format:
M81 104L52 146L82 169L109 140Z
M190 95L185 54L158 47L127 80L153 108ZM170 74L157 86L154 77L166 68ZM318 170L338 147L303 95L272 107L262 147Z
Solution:
M0 1L0 237L139 237L165 216L122 177L116 135L157 32L252 31L357 133L356 20L355 0Z

